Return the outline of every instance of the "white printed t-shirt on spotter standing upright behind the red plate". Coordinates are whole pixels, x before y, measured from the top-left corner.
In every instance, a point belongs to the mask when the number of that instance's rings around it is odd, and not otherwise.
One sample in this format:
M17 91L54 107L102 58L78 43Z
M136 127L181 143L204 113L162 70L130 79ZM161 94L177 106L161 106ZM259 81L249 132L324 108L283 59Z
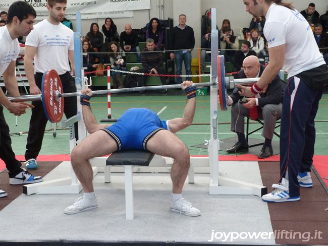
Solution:
M53 25L43 20L34 25L25 45L37 47L34 57L35 72L54 69L59 75L69 72L68 50L74 50L73 31L60 23Z

